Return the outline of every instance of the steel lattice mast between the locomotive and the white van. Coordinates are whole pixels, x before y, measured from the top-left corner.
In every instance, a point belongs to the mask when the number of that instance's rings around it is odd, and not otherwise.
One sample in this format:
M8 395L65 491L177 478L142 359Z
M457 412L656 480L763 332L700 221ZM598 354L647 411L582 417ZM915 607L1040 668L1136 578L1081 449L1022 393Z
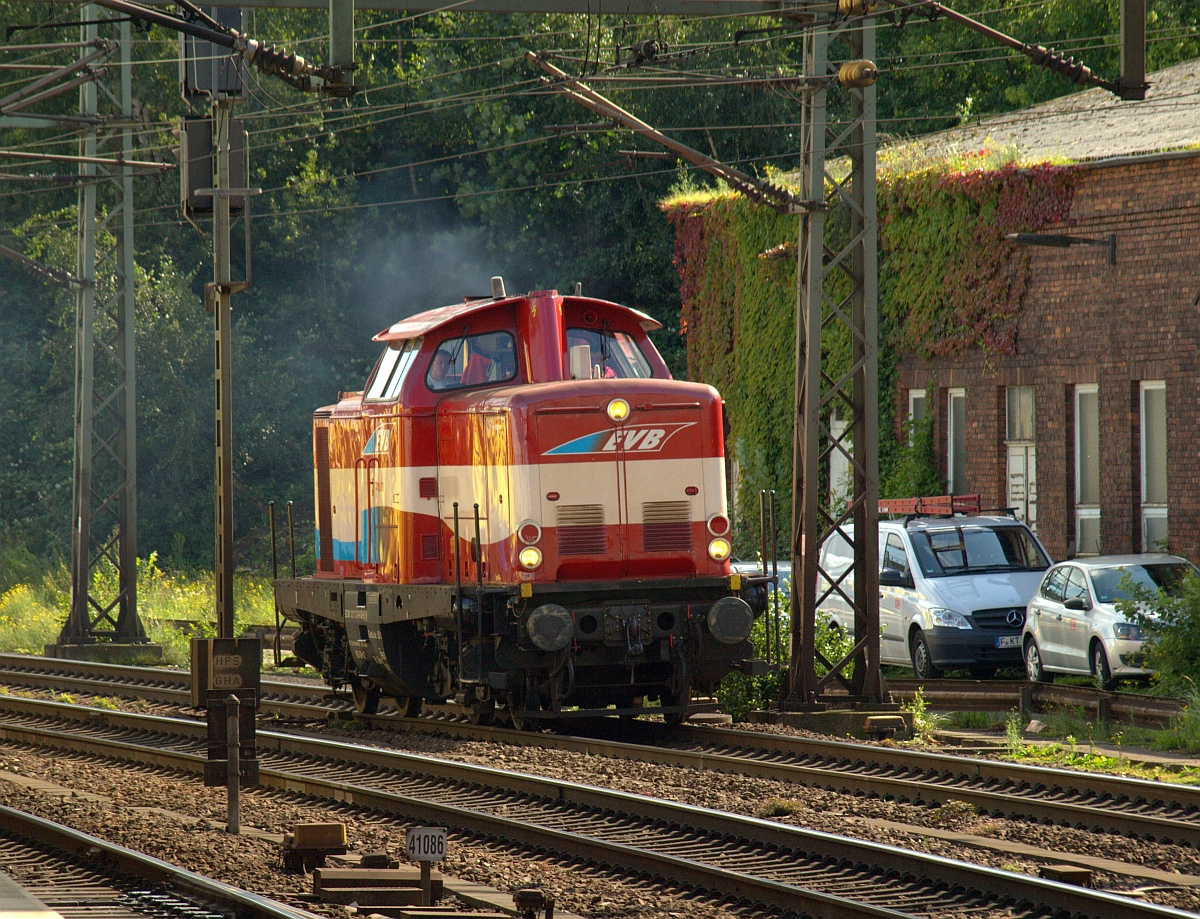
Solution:
M829 48L840 41L847 61L875 58L875 23L845 19L816 25L804 43L804 73L815 89L804 100L802 197L826 202L800 215L797 252L796 412L792 476L792 648L786 709L821 708L824 689L838 680L852 699L883 702L880 680L878 596L878 270L875 202L875 84L844 79L850 118L830 124L826 83L839 67ZM845 73L845 71L844 71ZM852 74L845 74L851 77ZM830 164L836 163L836 169ZM835 332L850 341L850 361L822 370L822 342ZM833 418L846 421L840 433ZM851 493L845 506L828 506L829 457L848 460ZM832 498L829 499L832 501ZM847 531L846 524L853 531ZM841 533L854 547L840 576L820 569L821 545ZM821 596L818 596L821 584ZM853 584L851 588L850 584ZM851 593L852 590L852 593ZM840 593L854 609L854 647L841 661L816 649L816 608ZM827 671L821 679L816 663ZM846 679L844 669L853 663Z

